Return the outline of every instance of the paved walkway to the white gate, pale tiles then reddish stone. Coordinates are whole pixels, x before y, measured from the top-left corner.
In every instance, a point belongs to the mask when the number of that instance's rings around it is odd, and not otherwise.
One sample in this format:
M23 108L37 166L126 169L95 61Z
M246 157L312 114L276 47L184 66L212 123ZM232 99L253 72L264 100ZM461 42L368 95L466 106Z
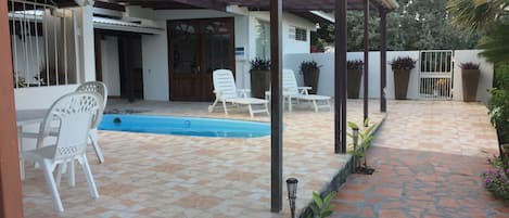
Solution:
M368 154L372 176L352 175L332 217L509 217L481 174L497 152L487 111L459 102L392 102Z

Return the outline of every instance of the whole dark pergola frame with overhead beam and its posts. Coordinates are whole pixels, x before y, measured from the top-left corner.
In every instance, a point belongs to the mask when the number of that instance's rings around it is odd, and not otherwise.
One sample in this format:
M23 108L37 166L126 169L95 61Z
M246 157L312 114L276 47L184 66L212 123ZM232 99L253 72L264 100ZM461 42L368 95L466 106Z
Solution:
M73 0L53 0L59 7L76 5ZM368 118L368 66L370 11L380 16L380 111L386 111L383 92L386 86L386 20L389 12L396 9L395 0L110 0L97 1L96 7L124 9L140 5L152 9L213 9L226 11L228 5L245 7L250 10L270 11L271 49L271 210L282 208L282 11L305 12L311 10L333 11L335 14L335 69L334 69L334 152L346 153L346 11L362 10L364 20L364 118ZM8 21L8 1L0 0L0 215L23 217L23 201L20 180L17 129L15 123L13 70Z

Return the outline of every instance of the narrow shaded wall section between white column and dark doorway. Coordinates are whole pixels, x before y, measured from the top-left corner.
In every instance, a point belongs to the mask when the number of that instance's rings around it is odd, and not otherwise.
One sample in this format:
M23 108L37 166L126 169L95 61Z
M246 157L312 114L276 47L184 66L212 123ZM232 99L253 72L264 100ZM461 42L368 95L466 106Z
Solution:
M101 40L102 81L107 87L107 94L120 95L120 70L118 62L118 39L106 36Z

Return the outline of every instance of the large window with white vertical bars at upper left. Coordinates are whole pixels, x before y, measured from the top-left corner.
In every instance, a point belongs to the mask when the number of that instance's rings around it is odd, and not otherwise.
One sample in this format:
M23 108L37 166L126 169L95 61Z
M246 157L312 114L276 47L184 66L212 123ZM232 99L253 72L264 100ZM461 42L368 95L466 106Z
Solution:
M27 4L9 3L14 88L76 84L75 11Z

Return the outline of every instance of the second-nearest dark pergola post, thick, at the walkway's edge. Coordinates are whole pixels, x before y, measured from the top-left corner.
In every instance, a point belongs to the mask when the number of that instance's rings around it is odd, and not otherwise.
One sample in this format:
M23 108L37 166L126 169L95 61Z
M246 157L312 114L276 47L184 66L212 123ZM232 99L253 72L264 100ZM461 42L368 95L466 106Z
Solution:
M334 153L346 153L346 0L335 0Z

